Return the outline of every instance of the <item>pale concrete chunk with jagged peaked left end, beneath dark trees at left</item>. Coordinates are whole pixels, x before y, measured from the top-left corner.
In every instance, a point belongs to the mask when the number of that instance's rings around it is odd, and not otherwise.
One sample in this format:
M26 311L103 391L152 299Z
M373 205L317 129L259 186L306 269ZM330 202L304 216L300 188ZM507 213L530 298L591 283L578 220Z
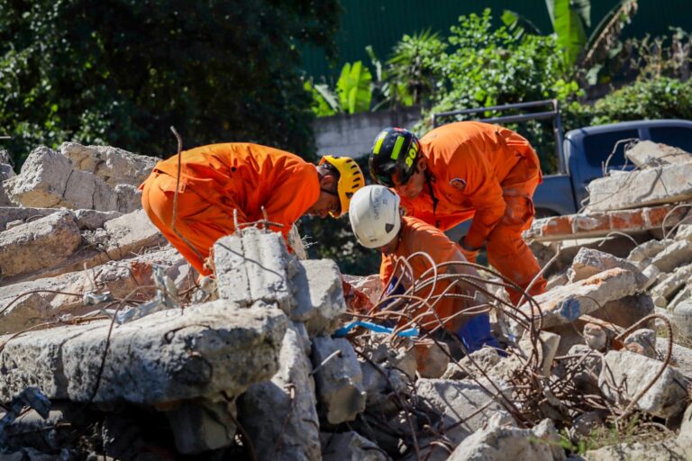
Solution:
M98 176L74 169L69 158L44 146L33 150L20 174L4 185L12 201L23 206L118 212L141 208L141 192L133 185L107 185Z

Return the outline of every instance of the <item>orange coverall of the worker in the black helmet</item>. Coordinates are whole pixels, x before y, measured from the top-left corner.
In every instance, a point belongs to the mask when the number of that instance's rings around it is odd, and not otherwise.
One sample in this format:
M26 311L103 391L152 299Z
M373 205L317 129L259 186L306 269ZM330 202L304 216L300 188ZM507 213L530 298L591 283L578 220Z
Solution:
M473 218L465 245L480 248L486 242L490 264L525 289L540 272L522 239L533 221L533 192L542 182L529 141L496 125L456 122L423 136L421 153L431 180L413 200L402 197L401 206L442 230ZM539 277L530 294L544 293L545 285ZM519 292L508 293L519 302Z

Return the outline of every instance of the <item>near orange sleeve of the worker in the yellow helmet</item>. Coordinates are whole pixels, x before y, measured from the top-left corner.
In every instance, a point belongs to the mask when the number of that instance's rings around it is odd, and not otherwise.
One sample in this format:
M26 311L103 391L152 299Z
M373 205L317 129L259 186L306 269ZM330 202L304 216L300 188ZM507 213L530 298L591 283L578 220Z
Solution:
M305 214L320 197L320 180L314 165L306 162L287 164L287 175L279 176L271 186L271 194L264 204L269 221L279 222L284 238L291 226Z

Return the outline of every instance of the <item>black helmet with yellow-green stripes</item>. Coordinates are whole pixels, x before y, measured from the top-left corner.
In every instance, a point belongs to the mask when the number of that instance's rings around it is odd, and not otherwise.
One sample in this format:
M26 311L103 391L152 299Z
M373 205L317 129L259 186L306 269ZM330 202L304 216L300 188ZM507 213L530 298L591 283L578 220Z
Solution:
M411 131L385 128L379 132L370 150L370 176L378 184L394 187L392 176L396 175L404 184L415 173L420 151L421 143Z

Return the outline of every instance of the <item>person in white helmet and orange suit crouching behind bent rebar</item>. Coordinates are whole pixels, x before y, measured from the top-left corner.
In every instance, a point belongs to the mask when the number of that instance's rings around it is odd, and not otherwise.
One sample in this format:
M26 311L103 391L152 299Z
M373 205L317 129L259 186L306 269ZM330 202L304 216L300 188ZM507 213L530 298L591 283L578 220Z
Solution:
M366 185L353 195L349 210L351 228L360 245L378 249L382 253L379 276L387 294L404 294L412 286L412 280L406 279L407 277L420 279L431 269L430 259L421 255L413 256L415 253L428 253L432 262L438 266L455 261L466 262L460 246L452 242L442 230L412 216L401 216L399 201L399 196L383 185ZM400 264L395 274L398 258L408 258L411 271L402 270L403 266ZM439 267L439 274L478 276L475 268L455 264ZM431 286L409 293L422 298L431 296L431 302L442 293L452 294L434 304L436 315L423 306L417 312L412 312L411 317L418 318L416 323L426 330L432 330L442 321L446 330L457 333L469 352L483 346L499 348L497 339L490 332L487 313L470 318L469 315L461 314L465 308L478 305L477 301L471 301L475 297L475 290L468 285L464 287L458 281L449 291L449 285L449 278L441 278L435 285L434 293L431 293ZM456 294L467 297L454 296ZM486 329L478 331L478 319L487 323Z

